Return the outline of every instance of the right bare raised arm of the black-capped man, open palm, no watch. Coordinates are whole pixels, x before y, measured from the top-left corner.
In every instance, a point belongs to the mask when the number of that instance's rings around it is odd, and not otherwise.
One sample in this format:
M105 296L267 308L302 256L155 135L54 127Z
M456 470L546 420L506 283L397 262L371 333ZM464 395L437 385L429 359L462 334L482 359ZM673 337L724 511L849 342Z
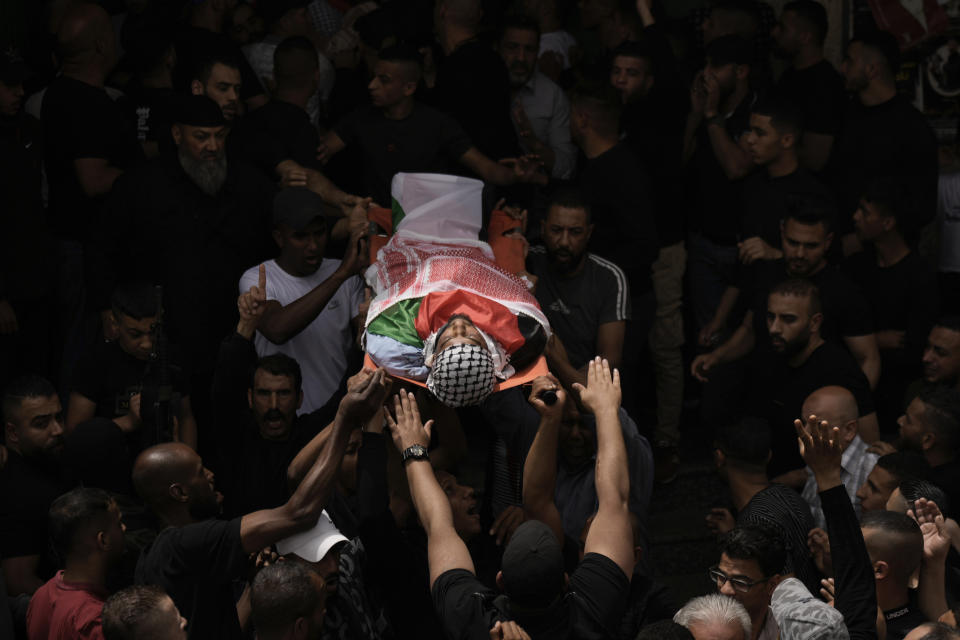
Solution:
M575 385L580 402L597 421L597 462L594 484L597 515L593 519L585 553L613 560L629 578L633 575L633 530L630 527L630 477L627 449L620 427L620 372L600 358L587 368L587 386Z

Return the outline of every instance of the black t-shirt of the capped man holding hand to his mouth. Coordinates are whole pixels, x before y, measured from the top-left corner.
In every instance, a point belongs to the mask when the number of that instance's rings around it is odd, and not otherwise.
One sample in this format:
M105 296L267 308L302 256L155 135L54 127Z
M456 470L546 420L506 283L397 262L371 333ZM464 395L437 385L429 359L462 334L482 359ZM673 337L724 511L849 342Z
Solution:
M726 130L734 142L750 129L754 102L756 94L748 95L727 118ZM717 244L734 245L741 237L743 180L730 180L723 172L707 130L706 123L697 130L697 146L690 162L689 226Z

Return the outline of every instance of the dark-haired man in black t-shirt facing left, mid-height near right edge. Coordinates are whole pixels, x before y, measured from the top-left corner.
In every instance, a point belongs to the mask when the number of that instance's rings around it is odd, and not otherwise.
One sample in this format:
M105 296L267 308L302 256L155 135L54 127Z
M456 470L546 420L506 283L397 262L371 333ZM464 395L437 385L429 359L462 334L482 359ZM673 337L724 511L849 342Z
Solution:
M920 375L920 359L937 317L936 275L911 249L903 227L908 196L895 178L874 180L853 214L864 251L843 267L863 290L875 323L881 374L877 412L881 427L893 429L903 410L907 385Z

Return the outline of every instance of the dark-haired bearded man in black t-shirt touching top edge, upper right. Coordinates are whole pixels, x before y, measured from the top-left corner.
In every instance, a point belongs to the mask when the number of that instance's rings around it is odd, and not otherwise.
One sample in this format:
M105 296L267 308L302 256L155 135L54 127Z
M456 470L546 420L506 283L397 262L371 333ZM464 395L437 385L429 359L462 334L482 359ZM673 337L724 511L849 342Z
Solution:
M790 61L777 92L799 107L803 136L796 140L801 163L820 171L840 135L847 96L843 79L823 57L827 11L814 0L794 0L783 7L773 28L774 53Z

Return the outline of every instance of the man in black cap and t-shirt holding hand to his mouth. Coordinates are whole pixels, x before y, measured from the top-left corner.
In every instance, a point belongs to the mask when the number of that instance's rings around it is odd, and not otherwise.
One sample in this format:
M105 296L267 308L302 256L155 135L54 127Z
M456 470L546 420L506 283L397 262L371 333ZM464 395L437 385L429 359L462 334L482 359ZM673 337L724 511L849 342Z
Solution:
M690 89L683 159L691 173L688 225L690 303L699 328L734 281L741 238L743 178L753 170L745 133L756 94L750 88L753 44L721 36Z

